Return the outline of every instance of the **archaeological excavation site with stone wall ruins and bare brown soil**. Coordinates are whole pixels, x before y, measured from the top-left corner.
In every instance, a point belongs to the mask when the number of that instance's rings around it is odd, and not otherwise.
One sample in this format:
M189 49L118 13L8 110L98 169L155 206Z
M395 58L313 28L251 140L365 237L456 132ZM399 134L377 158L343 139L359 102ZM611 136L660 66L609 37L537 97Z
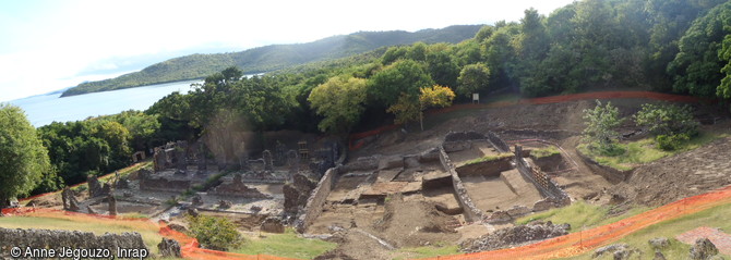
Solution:
M616 103L631 113L639 102ZM591 106L579 100L480 109L427 131L388 126L345 140L291 131L205 135L155 148L129 174L89 177L87 188L68 187L27 205L143 215L187 237L191 216L225 218L248 243L290 234L301 239L296 243L332 245L316 256L283 259L407 259L421 256L414 248L484 253L571 237L585 227L534 215L578 203L609 209L611 218L728 182L727 172L699 175L684 179L695 189L669 190L662 175L697 158L722 157L728 143L630 171L592 160L577 148L584 128L577 116ZM647 135L631 123L622 133L627 140ZM213 253L190 251L182 240L183 257Z

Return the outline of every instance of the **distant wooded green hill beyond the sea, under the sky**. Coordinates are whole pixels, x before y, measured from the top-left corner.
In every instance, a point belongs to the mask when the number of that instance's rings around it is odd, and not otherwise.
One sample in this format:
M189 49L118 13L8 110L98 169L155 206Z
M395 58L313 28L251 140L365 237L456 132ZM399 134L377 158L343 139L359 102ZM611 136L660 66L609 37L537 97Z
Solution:
M349 57L384 46L410 45L417 41L456 44L472 38L481 27L482 25L453 25L415 33L404 30L359 32L332 36L308 44L271 45L229 53L191 54L156 63L140 72L119 77L82 83L65 90L61 97L203 78L231 65L239 66L247 74L253 74Z

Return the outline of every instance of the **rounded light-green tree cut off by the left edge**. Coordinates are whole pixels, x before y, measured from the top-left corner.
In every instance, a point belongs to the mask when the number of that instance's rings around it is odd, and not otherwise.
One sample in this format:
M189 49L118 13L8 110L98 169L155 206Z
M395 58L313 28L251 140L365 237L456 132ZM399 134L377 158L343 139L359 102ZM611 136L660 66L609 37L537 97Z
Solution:
M0 103L0 205L27 195L51 170L48 150L17 107Z

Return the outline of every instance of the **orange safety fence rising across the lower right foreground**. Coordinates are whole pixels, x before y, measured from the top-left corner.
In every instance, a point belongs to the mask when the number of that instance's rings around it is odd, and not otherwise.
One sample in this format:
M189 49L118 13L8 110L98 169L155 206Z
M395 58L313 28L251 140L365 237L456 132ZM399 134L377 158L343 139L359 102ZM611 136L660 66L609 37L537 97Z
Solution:
M440 260L472 259L554 259L575 257L610 245L634 232L662 221L678 219L731 202L731 186L707 194L681 199L654 210L587 231L554 237L537 244L494 251L443 256Z

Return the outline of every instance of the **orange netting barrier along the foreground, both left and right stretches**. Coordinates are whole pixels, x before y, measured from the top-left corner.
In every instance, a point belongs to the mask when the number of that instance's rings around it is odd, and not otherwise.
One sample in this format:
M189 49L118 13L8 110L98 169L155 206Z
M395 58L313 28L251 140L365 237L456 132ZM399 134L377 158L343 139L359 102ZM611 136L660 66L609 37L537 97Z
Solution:
M565 236L551 238L537 244L501 249L494 251L483 251L475 253L443 256L438 258L426 259L553 259L574 257L582 253L589 252L596 248L609 245L622 237L634 232L648 227L661 221L673 220L683 215L693 214L706 209L717 206L731 203L731 186L722 189L710 191L707 194L685 198L675 202L649 210L647 212L631 216L612 224L598 226L591 230L572 233ZM147 219L109 216L109 215L93 215L75 212L65 212L50 209L34 209L34 208L15 208L3 209L3 214L9 215L44 215L44 214L62 214L77 218L101 218L115 219L116 221L136 221L149 222ZM271 259L285 260L291 258L281 258L266 255L242 255L233 252L224 252L216 250L207 250L199 248L199 243L195 238L189 237L185 234L173 231L165 223L158 223L159 234L176 239L180 243L184 258L189 259Z

